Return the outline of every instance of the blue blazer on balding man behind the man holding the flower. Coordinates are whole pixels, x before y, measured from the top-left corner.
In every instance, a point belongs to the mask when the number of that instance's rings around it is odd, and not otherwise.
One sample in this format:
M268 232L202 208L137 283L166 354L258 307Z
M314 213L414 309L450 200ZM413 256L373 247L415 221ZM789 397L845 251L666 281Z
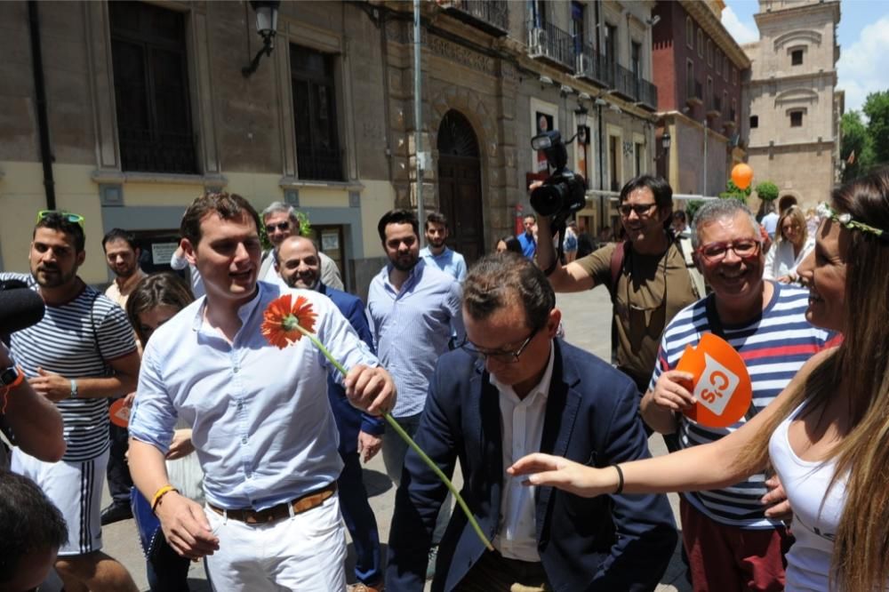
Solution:
M342 316L348 319L348 323L358 333L358 337L373 351L373 335L367 324L367 316L364 315L364 302L357 296L335 290L324 284L318 284L317 291L332 300L336 308L340 309ZM341 455L358 451L359 431L380 436L386 430L381 417L374 417L353 407L346 398L346 390L331 376L327 377L327 397L330 399L333 418L336 420L336 427L340 432L339 452Z

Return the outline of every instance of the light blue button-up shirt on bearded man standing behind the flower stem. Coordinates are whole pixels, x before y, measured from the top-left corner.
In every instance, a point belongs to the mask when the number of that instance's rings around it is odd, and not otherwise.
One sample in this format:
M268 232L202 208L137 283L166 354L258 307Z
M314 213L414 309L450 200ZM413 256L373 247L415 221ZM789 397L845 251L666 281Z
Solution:
M367 318L373 345L398 388L394 417L423 411L429 378L438 357L448 351L452 330L462 336L460 283L420 259L398 292L389 267L373 277L367 294Z

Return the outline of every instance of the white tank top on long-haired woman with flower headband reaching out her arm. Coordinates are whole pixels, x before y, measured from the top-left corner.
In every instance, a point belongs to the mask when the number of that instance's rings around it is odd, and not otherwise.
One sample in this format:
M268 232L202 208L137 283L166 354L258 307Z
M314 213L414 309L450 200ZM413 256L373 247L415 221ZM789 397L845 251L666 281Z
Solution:
M797 539L787 555L785 589L822 592L829 589L830 558L845 503L845 478L837 481L825 499L834 474L833 460L802 460L790 448L788 428L804 406L797 407L775 429L769 455L793 508L790 529Z

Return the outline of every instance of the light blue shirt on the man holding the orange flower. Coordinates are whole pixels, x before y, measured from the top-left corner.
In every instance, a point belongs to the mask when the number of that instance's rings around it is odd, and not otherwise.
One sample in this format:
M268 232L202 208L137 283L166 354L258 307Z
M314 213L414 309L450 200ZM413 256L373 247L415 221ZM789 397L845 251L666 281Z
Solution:
M270 508L330 484L342 468L327 374L342 376L308 339L268 345L263 312L287 289L257 285L233 343L204 324L203 298L157 329L130 418L130 436L164 453L177 417L192 426L206 499L220 508ZM312 303L315 333L341 364L379 365L331 300L291 292Z

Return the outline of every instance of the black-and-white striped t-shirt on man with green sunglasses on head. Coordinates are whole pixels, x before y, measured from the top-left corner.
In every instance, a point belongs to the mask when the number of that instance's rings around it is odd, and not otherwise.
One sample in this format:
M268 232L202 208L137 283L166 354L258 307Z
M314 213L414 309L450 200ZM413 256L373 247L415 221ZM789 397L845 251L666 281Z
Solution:
M8 279L37 289L33 276L0 274L0 280ZM47 305L40 323L12 333L11 349L28 378L37 375L37 366L67 379L103 378L113 375L108 361L136 351L136 342L123 308L87 285L74 300ZM68 444L63 460L90 460L105 452L107 398L68 398L56 405L65 421Z

